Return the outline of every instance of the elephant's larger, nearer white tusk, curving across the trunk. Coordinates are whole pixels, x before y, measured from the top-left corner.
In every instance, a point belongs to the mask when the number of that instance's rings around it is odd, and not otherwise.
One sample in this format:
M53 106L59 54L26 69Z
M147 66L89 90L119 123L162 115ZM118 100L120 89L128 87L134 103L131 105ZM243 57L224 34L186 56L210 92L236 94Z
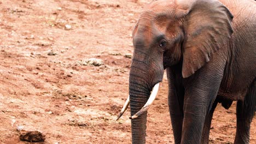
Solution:
M146 112L149 109L150 105L153 103L153 101L156 98L156 94L158 94L159 84L160 84L160 82L155 84L155 86L152 89L152 93L150 94L150 96L148 98L147 103L142 107L141 110L139 110L137 113L135 113L135 115L130 117L130 119L134 119L134 118L141 116L144 112Z

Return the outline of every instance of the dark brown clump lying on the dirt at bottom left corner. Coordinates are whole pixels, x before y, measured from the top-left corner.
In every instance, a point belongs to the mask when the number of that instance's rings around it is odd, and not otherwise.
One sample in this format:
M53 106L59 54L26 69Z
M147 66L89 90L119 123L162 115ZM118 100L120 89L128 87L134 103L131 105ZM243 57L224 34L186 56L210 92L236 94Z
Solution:
M45 135L43 135L39 131L25 131L25 130L22 130L21 133L20 133L20 140L21 141L28 141L28 142L44 142Z

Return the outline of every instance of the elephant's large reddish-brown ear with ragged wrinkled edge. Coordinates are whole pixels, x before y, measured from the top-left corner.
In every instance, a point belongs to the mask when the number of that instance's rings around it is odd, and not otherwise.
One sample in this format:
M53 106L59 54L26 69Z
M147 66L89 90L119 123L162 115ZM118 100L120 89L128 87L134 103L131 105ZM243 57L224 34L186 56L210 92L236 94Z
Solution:
M184 78L209 62L213 53L228 42L233 32L232 18L229 9L217 0L198 0L190 3L184 20Z

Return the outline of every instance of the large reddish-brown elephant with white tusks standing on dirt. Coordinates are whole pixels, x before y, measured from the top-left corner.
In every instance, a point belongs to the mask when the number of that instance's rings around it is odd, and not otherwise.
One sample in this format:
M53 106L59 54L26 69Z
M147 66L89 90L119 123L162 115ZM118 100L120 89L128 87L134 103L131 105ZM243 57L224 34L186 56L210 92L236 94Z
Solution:
M249 143L256 110L256 2L159 0L132 32L132 143L146 143L147 110L164 70L175 143L208 143L214 109L236 104L234 143Z

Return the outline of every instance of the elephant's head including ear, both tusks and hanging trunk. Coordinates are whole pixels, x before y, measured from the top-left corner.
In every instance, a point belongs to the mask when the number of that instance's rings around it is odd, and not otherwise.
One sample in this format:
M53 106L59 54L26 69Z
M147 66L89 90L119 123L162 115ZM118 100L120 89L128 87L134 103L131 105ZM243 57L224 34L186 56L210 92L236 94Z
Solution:
M132 143L146 142L147 109L164 69L182 64L183 78L193 75L230 38L231 21L230 11L217 0L160 0L147 5L133 30L130 96L119 115L130 103Z

